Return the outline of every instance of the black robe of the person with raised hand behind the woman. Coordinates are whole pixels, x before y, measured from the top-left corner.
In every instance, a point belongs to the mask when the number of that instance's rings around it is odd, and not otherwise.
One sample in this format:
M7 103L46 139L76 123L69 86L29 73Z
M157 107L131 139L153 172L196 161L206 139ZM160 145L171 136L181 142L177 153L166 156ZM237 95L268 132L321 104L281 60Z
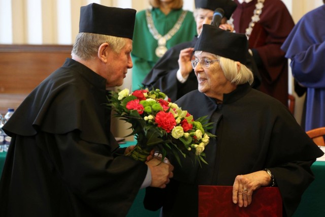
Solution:
M164 56L157 61L149 74L145 77L142 82L144 87L148 87L149 89L160 89L160 91L167 94L172 102L175 102L188 92L198 89L198 79L194 70L192 70L184 83L179 82L176 76L179 69L178 58L180 51L185 48L194 47L197 41L198 38L194 37L190 42L184 42L170 48ZM247 53L247 66L252 69L254 74L252 86L258 88L261 83L261 77L249 53Z

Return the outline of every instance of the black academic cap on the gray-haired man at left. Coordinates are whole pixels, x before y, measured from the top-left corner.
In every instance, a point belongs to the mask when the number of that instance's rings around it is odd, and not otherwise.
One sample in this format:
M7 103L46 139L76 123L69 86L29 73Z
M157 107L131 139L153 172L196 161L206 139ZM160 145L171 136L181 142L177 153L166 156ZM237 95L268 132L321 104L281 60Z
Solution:
M89 4L80 8L79 33L133 39L136 10Z

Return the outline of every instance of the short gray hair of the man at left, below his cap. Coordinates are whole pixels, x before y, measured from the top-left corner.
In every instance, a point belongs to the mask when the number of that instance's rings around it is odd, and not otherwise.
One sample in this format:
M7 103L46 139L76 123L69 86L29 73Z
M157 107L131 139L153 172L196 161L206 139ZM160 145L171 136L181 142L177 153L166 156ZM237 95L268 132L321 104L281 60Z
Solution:
M97 56L98 49L103 43L108 43L115 53L119 53L125 45L125 39L94 33L79 33L76 37L71 54L83 60Z

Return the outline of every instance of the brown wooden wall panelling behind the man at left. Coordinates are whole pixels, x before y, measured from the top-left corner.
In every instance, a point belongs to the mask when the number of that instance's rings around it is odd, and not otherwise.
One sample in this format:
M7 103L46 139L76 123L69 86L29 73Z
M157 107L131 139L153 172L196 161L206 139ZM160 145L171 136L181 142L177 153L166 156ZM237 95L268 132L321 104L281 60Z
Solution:
M0 113L16 109L71 50L72 45L0 45Z

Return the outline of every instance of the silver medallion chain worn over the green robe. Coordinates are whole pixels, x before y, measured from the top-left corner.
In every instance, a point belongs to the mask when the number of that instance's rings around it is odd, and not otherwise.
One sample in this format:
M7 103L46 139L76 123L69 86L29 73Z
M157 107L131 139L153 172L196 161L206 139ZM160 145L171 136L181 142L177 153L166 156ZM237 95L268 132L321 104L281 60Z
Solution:
M165 36L161 36L153 24L151 10L150 9L146 10L146 20L147 20L149 32L151 33L153 38L158 41L158 47L155 50L157 57L161 57L166 53L166 51L168 50L166 47L167 41L170 40L177 33L177 31L182 25L182 22L184 21L186 14L187 11L183 11L182 14L179 16L177 22L173 26L173 28L169 30L169 32Z

